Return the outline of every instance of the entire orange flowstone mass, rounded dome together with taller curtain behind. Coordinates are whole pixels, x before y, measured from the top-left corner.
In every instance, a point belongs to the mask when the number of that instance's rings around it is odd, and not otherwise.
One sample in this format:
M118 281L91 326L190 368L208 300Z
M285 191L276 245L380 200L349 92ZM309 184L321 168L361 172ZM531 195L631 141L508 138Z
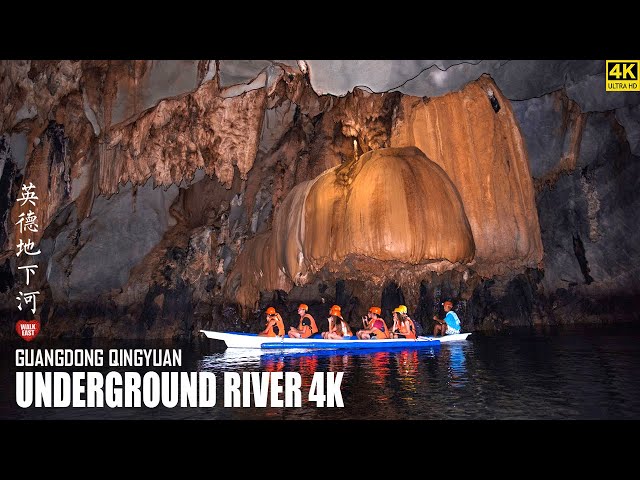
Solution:
M271 233L245 246L227 295L252 305L260 291L288 291L321 270L382 285L454 268L489 277L541 265L526 150L490 78L439 98L402 97L390 142L403 148L296 185Z

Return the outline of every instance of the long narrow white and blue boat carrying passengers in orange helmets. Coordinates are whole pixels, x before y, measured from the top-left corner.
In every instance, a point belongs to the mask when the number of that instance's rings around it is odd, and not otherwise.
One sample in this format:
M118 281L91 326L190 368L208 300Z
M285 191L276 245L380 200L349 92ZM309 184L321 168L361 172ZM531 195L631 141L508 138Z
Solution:
M229 348L260 348L260 349L283 349L283 348L308 348L308 349L386 349L401 347L433 347L445 342L457 342L466 340L471 333L459 333L457 335L445 335L443 337L420 336L413 339L389 338L375 340L358 340L355 337L346 340L325 340L323 338L290 338L290 337L261 337L256 333L241 332L214 332L211 330L200 330L208 338L222 340Z

